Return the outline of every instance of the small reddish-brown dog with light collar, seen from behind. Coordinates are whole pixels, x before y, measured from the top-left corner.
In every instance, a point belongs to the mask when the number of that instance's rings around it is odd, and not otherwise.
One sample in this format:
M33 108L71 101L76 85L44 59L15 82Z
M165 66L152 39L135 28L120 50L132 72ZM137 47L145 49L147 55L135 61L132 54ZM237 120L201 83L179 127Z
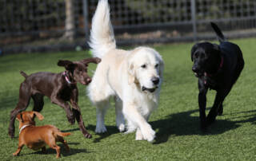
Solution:
M39 112L22 112L17 115L16 119L19 121L18 149L13 155L19 155L24 145L33 150L42 148L42 152L45 153L47 144L49 147L56 150L56 158L59 158L61 156L61 147L58 147L56 142L62 142L66 150L70 151L66 140L63 139L64 136L70 135L70 132L60 132L58 128L53 125L36 127L34 122L35 116L37 116L39 120L43 120L43 116Z

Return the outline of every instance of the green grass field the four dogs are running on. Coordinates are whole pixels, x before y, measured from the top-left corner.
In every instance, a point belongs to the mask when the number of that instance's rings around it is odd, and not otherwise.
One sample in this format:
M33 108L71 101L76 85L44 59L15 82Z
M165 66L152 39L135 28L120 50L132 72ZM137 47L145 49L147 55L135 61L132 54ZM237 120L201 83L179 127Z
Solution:
M256 158L256 39L232 40L243 52L246 62L237 83L224 102L223 116L210 127L207 134L200 132L198 113L198 80L191 71L190 49L192 43L154 45L165 61L164 82L158 109L150 117L156 131L154 143L135 141L135 134L119 133L115 127L114 108L106 113L103 135L94 133L96 110L86 96L86 87L78 84L79 106L82 108L86 128L93 135L85 139L78 124L70 125L66 113L45 97L42 115L37 125L53 124L64 132L70 152L62 144L62 158L58 160L255 160ZM1 160L53 160L55 151L47 147L47 154L23 147L20 156L12 153L18 147L18 121L15 138L7 135L10 111L18 102L19 84L26 73L39 71L62 72L59 59L80 60L90 57L87 52L28 53L0 57L0 158ZM90 65L90 71L95 65ZM90 72L92 75L92 72ZM207 95L207 109L214 101L214 91ZM33 101L27 110L32 110ZM207 111L208 112L208 111Z

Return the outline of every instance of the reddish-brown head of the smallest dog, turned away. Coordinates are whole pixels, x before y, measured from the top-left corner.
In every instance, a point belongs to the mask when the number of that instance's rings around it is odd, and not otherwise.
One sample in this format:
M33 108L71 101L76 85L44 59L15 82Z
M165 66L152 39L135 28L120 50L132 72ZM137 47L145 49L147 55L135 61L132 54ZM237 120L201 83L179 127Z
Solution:
M16 116L16 119L19 121L19 128L22 128L23 125L32 124L35 125L34 118L38 117L38 120L43 120L43 116L39 112L20 112Z

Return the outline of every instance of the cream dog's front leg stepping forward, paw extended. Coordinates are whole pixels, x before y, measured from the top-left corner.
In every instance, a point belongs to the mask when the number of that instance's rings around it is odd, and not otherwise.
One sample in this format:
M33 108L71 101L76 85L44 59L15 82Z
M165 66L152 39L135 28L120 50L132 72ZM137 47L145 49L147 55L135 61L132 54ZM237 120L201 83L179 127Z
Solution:
M146 119L138 112L134 104L123 104L123 113L127 120L137 125L142 132L143 138L151 142L154 140L155 132L151 128L150 124L146 122Z

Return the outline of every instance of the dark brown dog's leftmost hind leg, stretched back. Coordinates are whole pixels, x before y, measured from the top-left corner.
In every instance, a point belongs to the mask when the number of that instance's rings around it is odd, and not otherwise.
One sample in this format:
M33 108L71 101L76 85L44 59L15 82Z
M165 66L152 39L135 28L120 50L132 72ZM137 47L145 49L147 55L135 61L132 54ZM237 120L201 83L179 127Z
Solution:
M18 104L14 110L10 112L9 132L11 138L14 138L14 121L19 112L25 111L30 104L30 87L26 83L22 83L19 89Z

